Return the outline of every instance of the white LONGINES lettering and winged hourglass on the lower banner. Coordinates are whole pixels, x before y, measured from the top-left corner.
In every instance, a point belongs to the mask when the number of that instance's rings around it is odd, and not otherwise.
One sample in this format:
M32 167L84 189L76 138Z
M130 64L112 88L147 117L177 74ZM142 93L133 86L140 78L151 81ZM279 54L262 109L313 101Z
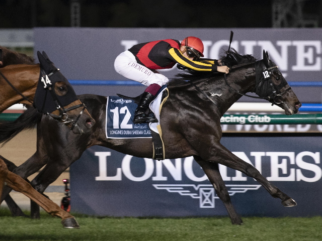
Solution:
M266 175L269 181L316 182L322 177L322 169L319 166L319 152L305 151L297 154L294 152L250 152L248 155L245 152L233 152L233 154L255 166L261 173L262 166L265 166L265 173L270 173ZM183 181L183 176L185 176L185 179L188 178L190 181L197 183L208 180L206 174L201 177L200 173L195 174L197 170L196 167L193 167L193 157L178 158L174 161L169 159L156 161L143 158L145 167L140 165L140 169L145 169L145 172L143 175L137 176L132 173L134 172L135 163L131 164L133 157L130 155L123 157L121 167L113 166L113 168L108 168L107 157L111 156L111 152L95 152L95 156L99 157L99 176L95 177L96 181L122 181L128 179L133 182L144 182L150 179L150 182L157 181L156 184L152 184L157 190L166 190L170 193L199 199L200 208L215 207L215 199L219 198L210 184L175 184L177 181ZM113 162L115 163L115 160ZM165 169L168 171L167 174ZM109 173L116 174L113 174L114 176L107 175L107 170L109 170ZM247 181L253 179L239 171L229 170L222 165L219 165L219 170L224 181L239 182L238 185L226 185L231 196L236 193L258 190L261 186L250 185ZM160 184L162 181L165 181L166 184ZM240 181L245 181L246 183L239 185Z

